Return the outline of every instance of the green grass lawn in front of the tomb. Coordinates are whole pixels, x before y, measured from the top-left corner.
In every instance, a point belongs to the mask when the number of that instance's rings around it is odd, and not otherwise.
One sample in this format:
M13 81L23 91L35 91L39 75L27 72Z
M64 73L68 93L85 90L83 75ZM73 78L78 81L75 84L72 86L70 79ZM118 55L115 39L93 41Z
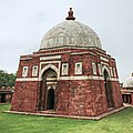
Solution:
M0 133L133 133L133 109L127 108L100 121L8 114L0 104Z

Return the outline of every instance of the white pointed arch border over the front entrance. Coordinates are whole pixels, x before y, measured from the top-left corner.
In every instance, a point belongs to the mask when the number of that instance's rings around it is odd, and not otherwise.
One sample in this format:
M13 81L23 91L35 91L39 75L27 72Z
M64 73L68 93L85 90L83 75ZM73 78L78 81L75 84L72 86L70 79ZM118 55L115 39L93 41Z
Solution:
M59 69L58 69L55 65L53 65L53 64L48 64L48 65L45 65L42 70L40 70L39 81L42 80L42 74L43 74L44 71L47 71L48 69L54 70L54 71L57 72L58 79L59 79L59 73L60 73L60 72L59 72Z

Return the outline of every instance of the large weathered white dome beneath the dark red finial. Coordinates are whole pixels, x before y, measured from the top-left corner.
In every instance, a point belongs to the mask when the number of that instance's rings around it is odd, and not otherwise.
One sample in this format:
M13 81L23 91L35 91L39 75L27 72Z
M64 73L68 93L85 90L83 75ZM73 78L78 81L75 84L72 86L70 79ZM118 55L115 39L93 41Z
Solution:
M98 34L90 27L74 20L65 20L50 29L43 37L40 49L70 45L102 49Z

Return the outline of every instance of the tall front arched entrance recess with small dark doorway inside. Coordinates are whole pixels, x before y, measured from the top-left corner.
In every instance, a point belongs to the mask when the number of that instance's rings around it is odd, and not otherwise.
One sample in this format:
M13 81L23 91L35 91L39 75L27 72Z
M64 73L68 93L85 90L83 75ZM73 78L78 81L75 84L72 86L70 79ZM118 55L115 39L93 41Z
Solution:
M48 69L42 74L39 105L41 111L55 110L57 78L57 72L52 69Z

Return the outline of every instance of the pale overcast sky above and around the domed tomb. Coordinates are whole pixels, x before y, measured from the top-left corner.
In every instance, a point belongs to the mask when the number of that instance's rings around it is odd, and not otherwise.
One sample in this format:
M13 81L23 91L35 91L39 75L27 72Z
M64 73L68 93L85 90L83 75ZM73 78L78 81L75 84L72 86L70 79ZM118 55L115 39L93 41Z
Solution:
M0 0L0 70L17 72L21 54L40 48L44 33L70 7L116 59L120 81L133 72L133 0Z

